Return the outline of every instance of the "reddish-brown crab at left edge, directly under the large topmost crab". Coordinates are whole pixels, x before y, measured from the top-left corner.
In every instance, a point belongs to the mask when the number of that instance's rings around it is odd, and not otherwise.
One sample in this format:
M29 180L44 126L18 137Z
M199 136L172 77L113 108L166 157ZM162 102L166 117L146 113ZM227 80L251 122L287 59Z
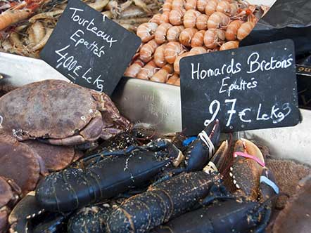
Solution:
M39 174L46 174L41 157L15 138L0 134L0 175L14 182L23 194L33 190Z

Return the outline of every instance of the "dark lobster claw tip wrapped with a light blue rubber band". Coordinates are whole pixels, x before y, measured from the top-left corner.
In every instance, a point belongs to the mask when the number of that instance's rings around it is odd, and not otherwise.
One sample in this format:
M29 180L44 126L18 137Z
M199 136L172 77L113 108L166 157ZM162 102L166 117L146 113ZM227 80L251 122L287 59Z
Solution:
M268 168L262 169L259 189L262 196L260 201L265 201L279 194L279 187L276 184L274 175Z

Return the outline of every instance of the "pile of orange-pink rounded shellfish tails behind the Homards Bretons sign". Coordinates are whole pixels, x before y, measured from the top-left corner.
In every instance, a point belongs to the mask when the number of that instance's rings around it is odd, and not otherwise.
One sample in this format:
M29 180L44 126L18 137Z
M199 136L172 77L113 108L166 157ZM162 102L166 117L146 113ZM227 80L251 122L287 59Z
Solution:
M179 85L179 60L239 47L267 7L235 0L166 0L137 28L142 44L125 76Z

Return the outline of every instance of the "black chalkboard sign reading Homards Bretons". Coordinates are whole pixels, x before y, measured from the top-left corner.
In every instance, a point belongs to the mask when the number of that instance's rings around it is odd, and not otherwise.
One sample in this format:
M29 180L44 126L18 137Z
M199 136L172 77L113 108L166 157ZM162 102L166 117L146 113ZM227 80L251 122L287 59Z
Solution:
M182 125L195 135L213 119L223 132L294 126L300 121L293 41L180 61Z

